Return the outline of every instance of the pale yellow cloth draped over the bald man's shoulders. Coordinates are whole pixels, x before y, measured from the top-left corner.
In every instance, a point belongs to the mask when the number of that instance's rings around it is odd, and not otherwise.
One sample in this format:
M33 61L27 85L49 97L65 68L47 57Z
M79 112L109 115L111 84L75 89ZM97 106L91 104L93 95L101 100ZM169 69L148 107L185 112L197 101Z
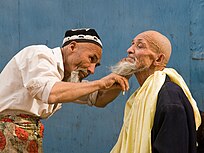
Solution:
M118 141L111 153L151 153L151 129L158 93L164 84L166 75L174 83L178 84L190 101L194 116L196 129L201 124L200 113L183 78L172 68L156 71L149 76L144 84L136 90L128 99L123 126Z

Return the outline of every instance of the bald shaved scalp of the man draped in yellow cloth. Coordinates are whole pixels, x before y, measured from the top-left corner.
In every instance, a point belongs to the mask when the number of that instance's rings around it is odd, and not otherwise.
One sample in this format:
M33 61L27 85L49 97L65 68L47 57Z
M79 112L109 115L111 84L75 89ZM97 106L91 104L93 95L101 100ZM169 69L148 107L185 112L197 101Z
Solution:
M148 41L150 47L156 53L163 53L165 56L165 63L167 64L171 56L171 43L169 39L161 33L153 30L145 31L137 35Z

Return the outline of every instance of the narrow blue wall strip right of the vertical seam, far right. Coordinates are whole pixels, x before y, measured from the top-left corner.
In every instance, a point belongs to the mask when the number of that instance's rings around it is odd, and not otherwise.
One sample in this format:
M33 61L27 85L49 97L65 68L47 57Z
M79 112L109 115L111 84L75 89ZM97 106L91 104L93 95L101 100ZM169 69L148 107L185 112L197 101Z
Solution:
M204 0L190 4L190 85L193 96L204 110Z

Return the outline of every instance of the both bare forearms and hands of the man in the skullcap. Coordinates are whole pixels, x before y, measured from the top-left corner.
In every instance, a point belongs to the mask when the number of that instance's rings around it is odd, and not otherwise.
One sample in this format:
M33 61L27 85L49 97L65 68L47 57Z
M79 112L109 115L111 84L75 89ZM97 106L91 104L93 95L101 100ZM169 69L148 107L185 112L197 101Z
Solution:
M113 73L100 80L90 82L58 82L51 90L48 103L73 102L99 90L100 94L98 96L97 105L98 107L100 107L100 105L102 107L113 100L119 94L120 90L126 91L128 89L128 80Z

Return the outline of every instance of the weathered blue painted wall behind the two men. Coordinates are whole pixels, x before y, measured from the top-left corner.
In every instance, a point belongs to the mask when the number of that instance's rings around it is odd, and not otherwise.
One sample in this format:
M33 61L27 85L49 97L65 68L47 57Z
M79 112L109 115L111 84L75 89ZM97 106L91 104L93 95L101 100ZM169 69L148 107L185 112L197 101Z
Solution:
M31 44L60 46L70 28L93 27L104 49L102 66L89 79L109 73L126 56L133 37L155 29L172 42L169 67L189 85L204 110L203 0L0 0L0 71L20 49ZM64 104L45 124L45 153L108 153L116 143L125 101L138 87L104 109Z

